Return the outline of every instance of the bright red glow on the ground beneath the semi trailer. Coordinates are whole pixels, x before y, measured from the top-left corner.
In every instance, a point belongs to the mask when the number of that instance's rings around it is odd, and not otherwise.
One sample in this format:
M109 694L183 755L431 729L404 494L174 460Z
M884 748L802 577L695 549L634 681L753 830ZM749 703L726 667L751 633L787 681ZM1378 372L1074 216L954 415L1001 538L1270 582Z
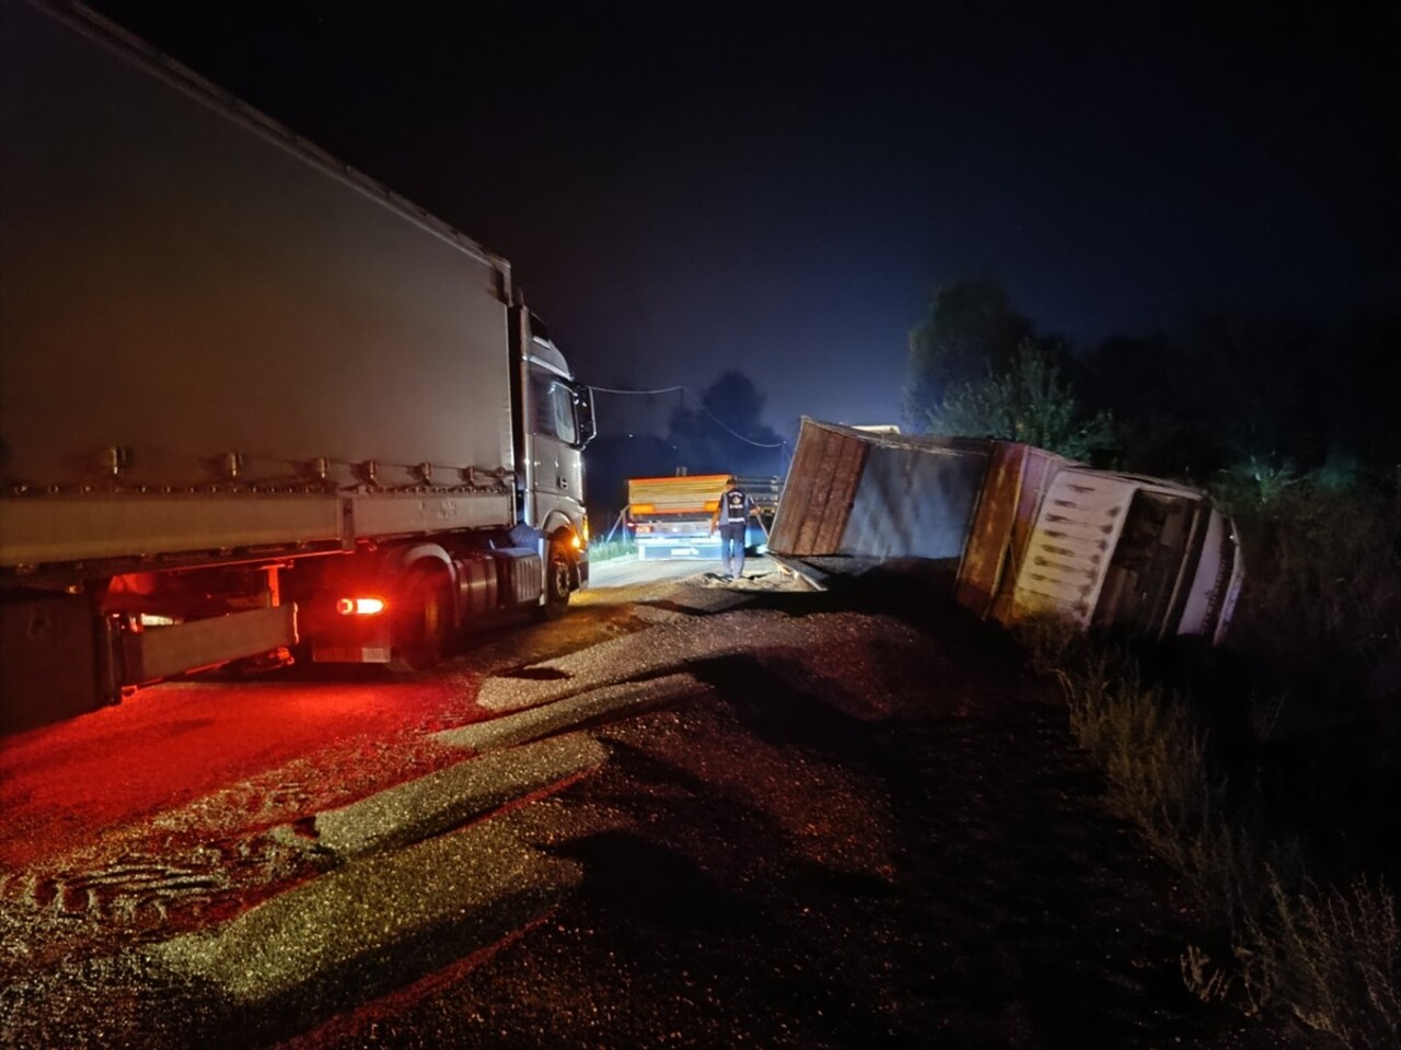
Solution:
M3 738L0 865L43 861L293 760L317 770L312 794L335 798L338 780L396 780L377 766L381 745L405 735L432 764L461 757L425 735L472 721L461 693L443 682L172 683ZM446 715L454 708L464 714Z

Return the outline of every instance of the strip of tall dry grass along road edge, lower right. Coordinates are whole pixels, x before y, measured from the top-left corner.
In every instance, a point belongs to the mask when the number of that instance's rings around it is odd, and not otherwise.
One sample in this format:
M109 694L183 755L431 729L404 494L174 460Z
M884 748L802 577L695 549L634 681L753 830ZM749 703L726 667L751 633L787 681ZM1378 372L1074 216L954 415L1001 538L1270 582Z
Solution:
M1189 946L1188 987L1252 1015L1290 1016L1341 1046L1393 1044L1401 1036L1401 938L1386 888L1309 883L1297 843L1267 839L1248 819L1258 797L1231 795L1212 770L1182 697L1146 685L1121 651L1084 643L1059 652L1070 658L1055 671L1070 728L1104 770L1110 805L1184 876L1231 946L1223 962Z

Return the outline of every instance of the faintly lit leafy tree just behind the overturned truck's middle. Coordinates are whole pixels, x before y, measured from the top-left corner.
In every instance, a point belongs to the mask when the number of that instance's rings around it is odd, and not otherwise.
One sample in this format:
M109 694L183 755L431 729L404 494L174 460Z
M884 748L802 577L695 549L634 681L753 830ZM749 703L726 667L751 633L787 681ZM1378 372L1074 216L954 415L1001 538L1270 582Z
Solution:
M957 386L927 413L934 434L1024 441L1070 459L1090 459L1114 444L1107 413L1089 416L1063 378L1063 343L1024 339L1010 364L989 361L981 379Z

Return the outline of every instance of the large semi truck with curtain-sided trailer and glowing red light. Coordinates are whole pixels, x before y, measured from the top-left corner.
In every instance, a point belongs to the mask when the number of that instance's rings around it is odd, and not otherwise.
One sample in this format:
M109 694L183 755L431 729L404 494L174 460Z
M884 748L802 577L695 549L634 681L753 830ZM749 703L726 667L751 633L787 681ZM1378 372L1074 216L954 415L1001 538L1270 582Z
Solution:
M81 6L0 20L3 728L560 615L593 405L510 265Z

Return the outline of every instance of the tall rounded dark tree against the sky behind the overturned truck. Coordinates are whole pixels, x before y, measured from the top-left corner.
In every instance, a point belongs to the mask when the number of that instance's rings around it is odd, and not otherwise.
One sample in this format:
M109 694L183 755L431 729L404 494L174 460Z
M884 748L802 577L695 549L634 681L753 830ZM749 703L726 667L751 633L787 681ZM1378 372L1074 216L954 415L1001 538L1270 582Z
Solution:
M989 371L1003 372L1033 330L995 280L965 280L934 291L929 314L909 333L905 421L922 430L930 410L953 391Z

